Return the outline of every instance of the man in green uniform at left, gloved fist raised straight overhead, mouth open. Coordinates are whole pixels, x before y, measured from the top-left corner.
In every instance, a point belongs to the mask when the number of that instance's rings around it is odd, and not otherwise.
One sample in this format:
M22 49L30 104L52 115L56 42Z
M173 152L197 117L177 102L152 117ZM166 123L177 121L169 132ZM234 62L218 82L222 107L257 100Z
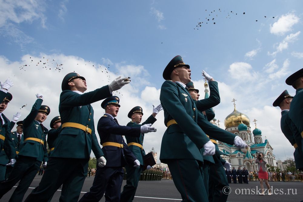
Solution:
M50 109L46 105L41 105L42 94L36 94L36 97L38 99L31 112L23 120L24 143L18 154L18 161L8 179L0 183L0 197L2 197L20 180L10 201L22 201L41 163L43 162L43 166L46 166L48 161L45 144L48 130L42 125L42 122L46 120Z

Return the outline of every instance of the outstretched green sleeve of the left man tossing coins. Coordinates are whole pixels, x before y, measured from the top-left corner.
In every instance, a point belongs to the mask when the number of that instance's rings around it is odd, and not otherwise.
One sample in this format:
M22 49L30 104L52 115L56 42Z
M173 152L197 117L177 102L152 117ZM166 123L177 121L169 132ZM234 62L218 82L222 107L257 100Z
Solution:
M60 107L71 108L84 106L110 96L112 96L112 94L109 92L108 85L84 94L78 94L70 90L65 90L62 91L60 95Z

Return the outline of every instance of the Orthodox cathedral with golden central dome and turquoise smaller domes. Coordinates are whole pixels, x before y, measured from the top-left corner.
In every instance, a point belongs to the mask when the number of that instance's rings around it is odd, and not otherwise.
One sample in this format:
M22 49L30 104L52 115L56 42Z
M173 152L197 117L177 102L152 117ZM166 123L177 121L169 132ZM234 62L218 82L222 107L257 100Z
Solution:
M208 98L208 84L205 82L205 98ZM251 132L250 127L250 120L248 116L239 112L236 109L234 102L234 111L229 114L225 120L225 130L231 132L235 135L240 136L243 141L248 145L248 149L239 149L234 145L226 144L221 141L217 141L218 147L220 151L222 151L225 155L221 155L225 161L228 161L232 164L232 167L238 169L238 167L246 167L248 171L258 171L258 165L255 164L255 160L257 157L257 153L263 153L265 161L271 166L276 167L276 159L275 155L273 154L273 148L269 144L269 141L266 139L263 141L262 132L259 128L257 128L256 121L255 122L255 129ZM212 124L219 126L219 120L213 119L211 121Z

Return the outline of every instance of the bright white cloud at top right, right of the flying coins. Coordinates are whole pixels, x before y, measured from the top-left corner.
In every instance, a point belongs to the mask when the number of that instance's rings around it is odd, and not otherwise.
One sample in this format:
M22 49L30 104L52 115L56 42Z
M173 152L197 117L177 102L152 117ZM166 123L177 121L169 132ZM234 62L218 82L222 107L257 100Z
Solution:
M282 15L277 22L272 26L270 25L270 33L275 35L283 35L292 30L292 26L299 22L298 18L294 14Z

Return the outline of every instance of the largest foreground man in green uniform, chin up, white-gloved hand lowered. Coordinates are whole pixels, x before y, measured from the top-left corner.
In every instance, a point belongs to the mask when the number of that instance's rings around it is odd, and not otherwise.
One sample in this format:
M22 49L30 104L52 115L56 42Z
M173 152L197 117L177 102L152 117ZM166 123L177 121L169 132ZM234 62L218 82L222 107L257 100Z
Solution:
M168 164L183 201L207 201L203 183L203 156L215 154L215 146L197 124L198 110L188 91L191 70L180 55L163 71L160 101L167 129L162 137L160 160Z

